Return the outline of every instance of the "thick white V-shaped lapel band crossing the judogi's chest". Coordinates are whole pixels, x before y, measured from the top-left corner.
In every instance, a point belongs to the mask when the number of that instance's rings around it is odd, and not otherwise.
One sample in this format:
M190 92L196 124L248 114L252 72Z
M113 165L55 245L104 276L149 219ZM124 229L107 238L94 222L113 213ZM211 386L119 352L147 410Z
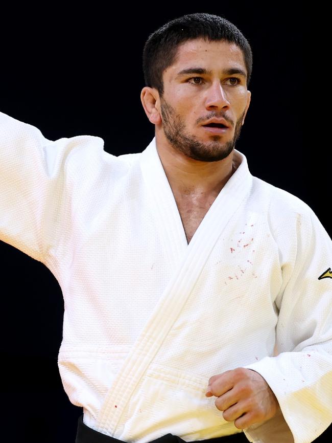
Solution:
M252 175L247 159L236 149L234 159L241 161L241 164L220 191L188 244L172 189L156 149L155 138L141 153L141 172L149 190L151 211L160 227L173 277L106 394L97 419L100 432L108 435L116 433L117 424L132 392L181 313L218 237L250 192Z

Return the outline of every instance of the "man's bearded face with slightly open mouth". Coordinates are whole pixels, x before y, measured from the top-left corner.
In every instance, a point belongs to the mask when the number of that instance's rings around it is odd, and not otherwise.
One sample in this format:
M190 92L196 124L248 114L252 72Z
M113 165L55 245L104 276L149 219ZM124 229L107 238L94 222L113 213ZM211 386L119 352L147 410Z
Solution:
M195 160L215 162L229 156L250 103L246 74L244 56L234 43L183 43L163 73L160 137ZM224 118L229 128L222 132L203 126L214 117Z

